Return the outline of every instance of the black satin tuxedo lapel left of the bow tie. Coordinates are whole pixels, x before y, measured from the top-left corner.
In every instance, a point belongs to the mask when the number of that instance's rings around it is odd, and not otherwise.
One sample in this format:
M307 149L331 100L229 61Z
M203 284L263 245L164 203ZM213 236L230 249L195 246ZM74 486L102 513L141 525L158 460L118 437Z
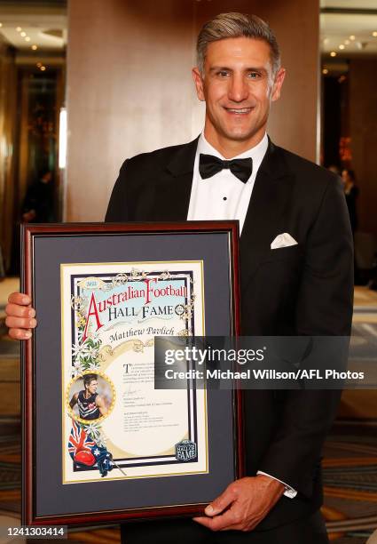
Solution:
M198 138L177 148L162 172L154 195L153 220L187 219L197 147Z

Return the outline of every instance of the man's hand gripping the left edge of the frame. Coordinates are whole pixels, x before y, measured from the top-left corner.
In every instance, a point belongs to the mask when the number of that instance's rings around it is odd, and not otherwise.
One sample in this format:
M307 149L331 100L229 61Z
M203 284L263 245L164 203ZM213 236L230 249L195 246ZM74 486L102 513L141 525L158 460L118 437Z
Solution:
M36 327L35 309L30 308L31 300L27 294L12 292L5 307L5 324L9 336L14 340L28 340L31 329Z

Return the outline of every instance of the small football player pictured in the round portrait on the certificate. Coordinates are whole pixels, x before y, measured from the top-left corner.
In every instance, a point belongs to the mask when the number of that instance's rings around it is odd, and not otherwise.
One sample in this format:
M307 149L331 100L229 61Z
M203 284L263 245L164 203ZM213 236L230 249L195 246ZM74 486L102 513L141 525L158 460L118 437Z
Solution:
M73 409L77 404L82 420L98 420L106 415L107 408L102 396L98 395L98 382L96 374L85 374L83 377L83 389L72 396L69 405Z

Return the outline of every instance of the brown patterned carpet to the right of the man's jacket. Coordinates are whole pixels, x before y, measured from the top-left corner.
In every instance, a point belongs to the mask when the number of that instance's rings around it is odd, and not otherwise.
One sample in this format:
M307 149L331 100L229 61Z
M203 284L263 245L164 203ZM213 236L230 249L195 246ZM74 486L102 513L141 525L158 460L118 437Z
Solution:
M377 367L377 293L355 291L350 354ZM365 543L377 528L377 391L348 390L324 448L324 515L336 544Z

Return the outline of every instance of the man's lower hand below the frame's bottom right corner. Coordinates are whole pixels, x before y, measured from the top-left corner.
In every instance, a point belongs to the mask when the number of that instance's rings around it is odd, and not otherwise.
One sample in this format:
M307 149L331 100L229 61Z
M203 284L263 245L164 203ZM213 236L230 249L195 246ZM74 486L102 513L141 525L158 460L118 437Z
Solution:
M208 517L194 521L212 531L252 531L284 493L284 485L270 476L241 478L205 509Z

